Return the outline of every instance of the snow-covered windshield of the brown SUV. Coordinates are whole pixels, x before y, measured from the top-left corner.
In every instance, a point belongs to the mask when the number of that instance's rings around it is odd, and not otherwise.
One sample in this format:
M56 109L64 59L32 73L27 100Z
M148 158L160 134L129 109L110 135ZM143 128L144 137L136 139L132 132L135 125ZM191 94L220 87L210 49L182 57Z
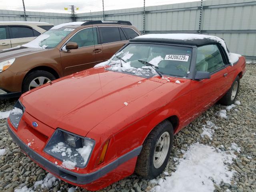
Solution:
M70 32L73 28L60 28L48 30L32 40L31 42L24 44L22 46L31 48L54 48L56 47Z

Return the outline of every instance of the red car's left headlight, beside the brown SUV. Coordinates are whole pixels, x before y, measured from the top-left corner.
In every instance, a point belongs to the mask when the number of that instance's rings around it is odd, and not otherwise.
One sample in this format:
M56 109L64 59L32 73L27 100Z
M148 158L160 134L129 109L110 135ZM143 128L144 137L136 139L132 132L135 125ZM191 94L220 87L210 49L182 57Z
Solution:
M22 115L25 111L25 107L18 100L16 104L13 106L9 118L12 125L17 129L22 118Z

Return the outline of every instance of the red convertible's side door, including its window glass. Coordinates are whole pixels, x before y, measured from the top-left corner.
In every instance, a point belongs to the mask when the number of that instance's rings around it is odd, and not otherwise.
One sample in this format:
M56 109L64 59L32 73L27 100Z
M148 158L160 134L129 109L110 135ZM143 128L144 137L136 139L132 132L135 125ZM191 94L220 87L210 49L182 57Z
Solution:
M216 44L200 46L197 48L197 71L210 72L210 79L192 80L191 82L191 108L192 118L209 108L228 89L222 55Z

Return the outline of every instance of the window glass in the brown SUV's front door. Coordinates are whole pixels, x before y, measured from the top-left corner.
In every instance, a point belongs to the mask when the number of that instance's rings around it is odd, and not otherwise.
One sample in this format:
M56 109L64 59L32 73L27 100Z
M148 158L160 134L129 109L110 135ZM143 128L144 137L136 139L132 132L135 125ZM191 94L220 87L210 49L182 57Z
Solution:
M78 48L98 44L96 28L85 28L77 32L68 42L76 42Z

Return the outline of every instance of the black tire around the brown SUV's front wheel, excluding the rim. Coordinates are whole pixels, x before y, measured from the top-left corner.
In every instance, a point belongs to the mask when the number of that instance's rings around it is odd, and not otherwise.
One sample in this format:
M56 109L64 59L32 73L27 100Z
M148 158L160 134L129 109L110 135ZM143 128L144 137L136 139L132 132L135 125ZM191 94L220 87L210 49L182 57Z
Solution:
M24 79L24 82L22 84L22 93L27 92L29 89L28 86L29 86L30 82L40 76L46 77L46 78L50 79L51 81L56 79L56 77L53 74L51 74L50 72L47 72L47 71L37 70L37 71L31 72Z

